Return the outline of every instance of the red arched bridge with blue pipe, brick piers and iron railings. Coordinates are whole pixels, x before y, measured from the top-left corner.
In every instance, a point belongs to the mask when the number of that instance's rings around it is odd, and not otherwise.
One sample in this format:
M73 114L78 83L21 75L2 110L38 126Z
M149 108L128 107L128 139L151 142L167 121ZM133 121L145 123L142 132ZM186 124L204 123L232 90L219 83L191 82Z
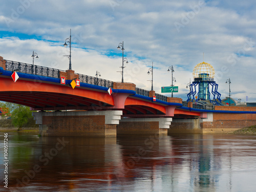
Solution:
M40 134L45 136L166 135L184 129L193 133L228 132L256 124L256 108L200 106L201 109L196 109L197 105L191 102L143 90L134 83L113 82L73 70L0 57L0 74L0 100L27 105L37 111L33 116ZM238 119L242 125L234 123Z

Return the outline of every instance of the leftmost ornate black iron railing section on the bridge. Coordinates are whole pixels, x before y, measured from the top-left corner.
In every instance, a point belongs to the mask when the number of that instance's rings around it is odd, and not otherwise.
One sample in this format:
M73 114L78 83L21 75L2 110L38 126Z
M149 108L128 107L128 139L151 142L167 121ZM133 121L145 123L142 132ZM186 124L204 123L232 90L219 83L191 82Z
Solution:
M42 67L42 66L36 66L31 65L27 63L22 62L15 62L10 60L6 61L6 70L7 71L17 71L20 73L28 73L28 74L34 74L34 75L40 75L40 76L46 76L46 77L55 77L59 78L59 72L62 70L48 68L48 67Z

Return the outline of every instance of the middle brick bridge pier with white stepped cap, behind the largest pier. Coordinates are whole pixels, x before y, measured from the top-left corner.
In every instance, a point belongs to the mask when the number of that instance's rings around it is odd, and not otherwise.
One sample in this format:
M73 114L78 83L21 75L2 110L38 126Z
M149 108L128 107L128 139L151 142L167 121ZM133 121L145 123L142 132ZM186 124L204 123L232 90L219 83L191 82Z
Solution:
M167 135L172 118L123 118L117 135Z

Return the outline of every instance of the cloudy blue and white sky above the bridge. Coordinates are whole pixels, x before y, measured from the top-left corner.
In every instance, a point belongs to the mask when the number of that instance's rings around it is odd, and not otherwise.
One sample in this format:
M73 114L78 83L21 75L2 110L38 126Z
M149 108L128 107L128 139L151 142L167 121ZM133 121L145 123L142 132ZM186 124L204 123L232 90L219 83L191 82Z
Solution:
M68 70L70 36L72 70L121 81L123 42L124 82L161 94L172 84L174 97L187 99L193 69L207 62L215 69L221 99L256 102L255 2L203 0L2 0L0 56L6 60ZM170 96L170 93L163 93ZM212 95L211 95L212 97Z

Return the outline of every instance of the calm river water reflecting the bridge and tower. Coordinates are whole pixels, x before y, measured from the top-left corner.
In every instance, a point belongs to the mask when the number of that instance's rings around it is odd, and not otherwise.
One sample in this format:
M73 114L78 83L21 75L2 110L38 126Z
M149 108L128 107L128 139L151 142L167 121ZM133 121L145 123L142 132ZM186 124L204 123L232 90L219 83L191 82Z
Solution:
M0 133L0 191L256 191L256 136L9 133L7 157Z

